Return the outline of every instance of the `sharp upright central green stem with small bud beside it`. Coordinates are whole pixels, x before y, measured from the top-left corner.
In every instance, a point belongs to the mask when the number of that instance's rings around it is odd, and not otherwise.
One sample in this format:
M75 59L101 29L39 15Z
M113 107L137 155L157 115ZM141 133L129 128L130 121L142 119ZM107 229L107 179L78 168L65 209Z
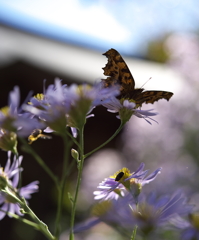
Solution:
M84 165L84 127L79 131L80 136L80 160L78 164L78 176L77 176L77 184L75 190L75 197L72 200L72 210L71 210L71 221L70 221L70 240L74 240L74 222L75 222L75 212L76 212L76 205L77 205L77 198L81 184L82 178L82 170Z

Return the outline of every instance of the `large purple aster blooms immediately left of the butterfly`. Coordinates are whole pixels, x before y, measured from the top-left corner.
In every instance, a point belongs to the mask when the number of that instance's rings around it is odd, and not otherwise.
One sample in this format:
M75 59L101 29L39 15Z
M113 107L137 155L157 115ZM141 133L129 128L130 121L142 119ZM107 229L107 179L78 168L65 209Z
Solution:
M86 118L93 116L90 112L93 108L101 104L116 94L116 87L110 89L102 88L102 84L94 86L62 85L59 79L55 79L55 84L50 85L45 93L31 98L29 105L24 105L26 111L44 120L47 127L46 132L56 131L63 133L66 126L80 129L86 122Z

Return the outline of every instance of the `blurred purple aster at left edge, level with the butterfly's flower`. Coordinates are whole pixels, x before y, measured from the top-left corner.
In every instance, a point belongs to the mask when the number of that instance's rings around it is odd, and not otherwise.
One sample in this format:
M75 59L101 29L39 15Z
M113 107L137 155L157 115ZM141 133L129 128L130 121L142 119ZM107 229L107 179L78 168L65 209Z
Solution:
M28 136L35 128L40 128L41 123L29 113L24 113L19 106L19 87L14 87L10 92L8 106L0 109L1 132L9 134L14 132L19 136Z

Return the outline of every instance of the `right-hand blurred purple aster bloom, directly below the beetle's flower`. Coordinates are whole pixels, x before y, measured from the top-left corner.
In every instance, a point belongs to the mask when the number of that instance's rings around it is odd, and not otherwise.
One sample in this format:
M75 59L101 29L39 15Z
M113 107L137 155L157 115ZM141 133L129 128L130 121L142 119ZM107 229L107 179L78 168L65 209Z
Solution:
M133 209L132 223L135 222L144 234L148 234L165 224L170 225L178 216L187 215L192 211L192 206L180 191L172 196L159 198L152 192L147 196L140 196L138 208L134 206Z

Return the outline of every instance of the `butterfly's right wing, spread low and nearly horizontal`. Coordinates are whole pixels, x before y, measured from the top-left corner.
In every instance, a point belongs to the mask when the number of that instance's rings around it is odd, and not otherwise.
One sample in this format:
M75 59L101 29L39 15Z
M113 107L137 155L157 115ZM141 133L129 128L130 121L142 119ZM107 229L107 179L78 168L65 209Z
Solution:
M169 99L173 96L172 92L166 92L166 91L145 91L140 94L137 94L134 96L134 100L136 104L141 106L143 103L151 103L160 100L160 99L166 99L169 101Z

